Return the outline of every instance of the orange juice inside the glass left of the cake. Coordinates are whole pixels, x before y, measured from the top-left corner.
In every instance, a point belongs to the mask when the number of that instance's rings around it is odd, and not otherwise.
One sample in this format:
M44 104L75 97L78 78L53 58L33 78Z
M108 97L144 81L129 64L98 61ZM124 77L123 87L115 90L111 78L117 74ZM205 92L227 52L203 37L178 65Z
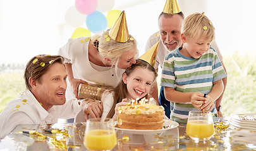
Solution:
M116 146L114 130L90 130L85 133L83 144L90 150L111 150Z

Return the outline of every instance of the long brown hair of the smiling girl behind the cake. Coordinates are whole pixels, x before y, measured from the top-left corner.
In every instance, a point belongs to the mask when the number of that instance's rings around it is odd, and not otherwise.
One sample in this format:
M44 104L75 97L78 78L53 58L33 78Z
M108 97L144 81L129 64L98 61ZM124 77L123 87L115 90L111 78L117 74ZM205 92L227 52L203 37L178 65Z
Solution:
M131 67L128 67L123 74L126 74L127 76L130 76L130 74L137 68L143 68L143 69L148 69L150 72L154 73L154 81L157 77L157 72L155 71L154 67L150 65L148 62L145 62L144 60L136 59L136 64L131 65ZM153 83L154 83L153 81ZM153 86L151 86L151 89ZM113 118L114 116L114 109L116 108L116 104L120 103L123 99L127 98L128 96L128 91L125 82L123 82L123 79L118 83L118 86L116 86L114 89L114 103L107 114L107 118ZM150 96L149 94L145 95L146 99L149 99Z

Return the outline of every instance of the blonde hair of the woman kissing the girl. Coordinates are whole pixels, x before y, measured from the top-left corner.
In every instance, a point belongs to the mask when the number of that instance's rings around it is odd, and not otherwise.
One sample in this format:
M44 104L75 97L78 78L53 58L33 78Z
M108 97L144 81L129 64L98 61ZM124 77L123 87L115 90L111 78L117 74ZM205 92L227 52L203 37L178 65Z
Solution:
M109 30L104 31L101 35L96 34L92 36L92 42L95 40L99 40L99 53L103 57L108 57L112 62L116 62L116 67L118 64L119 57L123 55L123 53L128 52L135 47L137 44L136 40L129 34L129 38L133 40L128 40L127 42L116 42L112 38L109 41L106 41L104 37L107 35L109 37Z

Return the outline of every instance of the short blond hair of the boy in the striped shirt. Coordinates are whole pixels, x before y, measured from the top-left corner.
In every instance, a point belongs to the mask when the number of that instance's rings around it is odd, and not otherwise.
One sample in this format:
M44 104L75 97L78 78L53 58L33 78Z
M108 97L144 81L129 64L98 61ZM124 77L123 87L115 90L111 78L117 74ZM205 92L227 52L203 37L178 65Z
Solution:
M186 38L198 39L200 36L206 36L209 42L214 40L214 26L204 13L194 13L186 17L183 24L183 33Z

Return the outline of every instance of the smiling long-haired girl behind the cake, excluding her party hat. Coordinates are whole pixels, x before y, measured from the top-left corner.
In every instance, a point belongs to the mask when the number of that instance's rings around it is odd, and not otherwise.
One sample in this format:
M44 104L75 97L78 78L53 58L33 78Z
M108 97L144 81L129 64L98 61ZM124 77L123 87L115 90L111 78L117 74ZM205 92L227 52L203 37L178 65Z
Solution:
M123 77L111 91L105 91L102 95L103 113L101 118L114 118L116 120L116 104L125 105L131 99L149 99L149 92L157 77L152 65L137 59L136 64L131 65L123 73Z

